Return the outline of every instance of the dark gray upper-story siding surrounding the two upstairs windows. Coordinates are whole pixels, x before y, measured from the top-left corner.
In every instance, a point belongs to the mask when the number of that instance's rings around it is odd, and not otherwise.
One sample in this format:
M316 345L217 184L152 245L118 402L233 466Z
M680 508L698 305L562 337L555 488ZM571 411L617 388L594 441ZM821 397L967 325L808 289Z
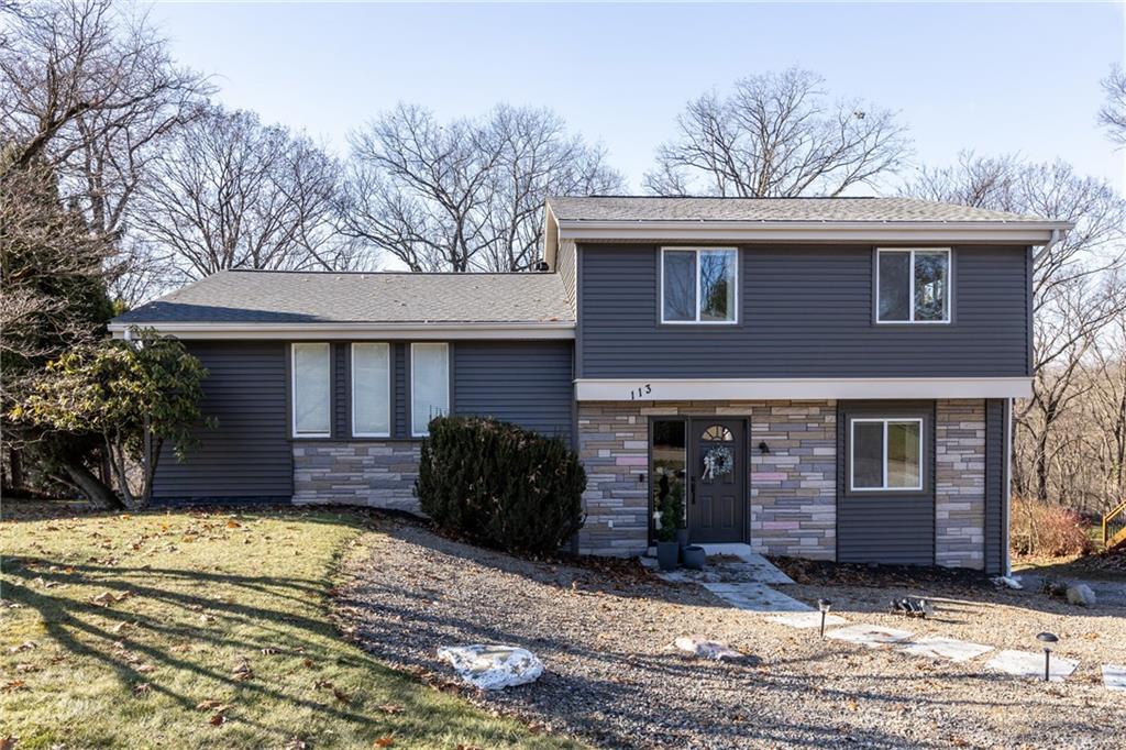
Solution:
M579 245L581 377L1029 374L1028 250L953 250L953 322L877 325L874 248L744 247L739 322L660 323L653 245Z

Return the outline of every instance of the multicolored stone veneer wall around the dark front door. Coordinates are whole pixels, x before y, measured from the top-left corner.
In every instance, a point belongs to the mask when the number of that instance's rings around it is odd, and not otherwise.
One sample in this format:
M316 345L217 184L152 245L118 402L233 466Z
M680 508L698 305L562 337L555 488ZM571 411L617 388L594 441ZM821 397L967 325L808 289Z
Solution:
M754 550L833 559L837 410L826 401L580 403L579 454L587 468L580 553L635 555L649 545L651 416L749 417ZM763 440L766 456L757 447Z

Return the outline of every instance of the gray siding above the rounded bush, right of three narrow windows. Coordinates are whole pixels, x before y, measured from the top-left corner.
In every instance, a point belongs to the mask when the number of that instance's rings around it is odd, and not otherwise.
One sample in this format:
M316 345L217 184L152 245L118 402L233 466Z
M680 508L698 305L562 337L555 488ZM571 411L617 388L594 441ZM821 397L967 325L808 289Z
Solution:
M454 350L456 413L571 437L570 341L458 341Z

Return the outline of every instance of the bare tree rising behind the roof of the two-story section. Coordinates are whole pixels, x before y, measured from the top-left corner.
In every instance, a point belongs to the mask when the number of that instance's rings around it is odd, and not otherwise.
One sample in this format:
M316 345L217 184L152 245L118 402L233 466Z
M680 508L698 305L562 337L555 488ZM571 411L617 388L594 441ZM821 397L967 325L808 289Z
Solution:
M790 68L689 102L645 187L658 195L837 196L902 166L910 146L895 113L832 102L823 84Z

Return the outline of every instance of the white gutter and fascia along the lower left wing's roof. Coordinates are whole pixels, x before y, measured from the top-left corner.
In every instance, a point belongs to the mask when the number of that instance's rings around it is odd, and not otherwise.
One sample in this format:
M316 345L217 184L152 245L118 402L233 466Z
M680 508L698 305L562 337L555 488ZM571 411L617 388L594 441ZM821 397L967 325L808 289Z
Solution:
M209 323L209 322L110 322L115 339L133 328L154 329L178 339L456 341L465 339L574 339L573 321L528 323Z

